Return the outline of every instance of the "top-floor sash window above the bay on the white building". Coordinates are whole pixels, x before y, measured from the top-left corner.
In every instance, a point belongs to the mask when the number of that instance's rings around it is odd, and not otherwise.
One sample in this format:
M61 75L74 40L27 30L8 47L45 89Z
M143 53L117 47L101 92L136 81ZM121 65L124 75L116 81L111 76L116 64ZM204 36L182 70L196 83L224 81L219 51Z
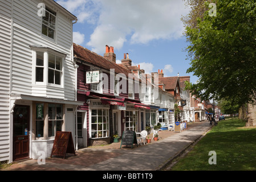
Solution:
M55 38L56 13L46 7L45 16L42 16L42 34L48 38Z

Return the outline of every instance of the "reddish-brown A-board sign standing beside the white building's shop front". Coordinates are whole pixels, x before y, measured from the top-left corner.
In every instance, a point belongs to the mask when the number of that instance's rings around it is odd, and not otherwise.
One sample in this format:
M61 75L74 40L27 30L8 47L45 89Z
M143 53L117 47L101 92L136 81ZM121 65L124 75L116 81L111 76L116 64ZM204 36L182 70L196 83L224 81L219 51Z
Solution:
M72 134L70 131L56 131L51 157L52 155L56 155L63 156L63 159L65 159L66 153L76 156Z

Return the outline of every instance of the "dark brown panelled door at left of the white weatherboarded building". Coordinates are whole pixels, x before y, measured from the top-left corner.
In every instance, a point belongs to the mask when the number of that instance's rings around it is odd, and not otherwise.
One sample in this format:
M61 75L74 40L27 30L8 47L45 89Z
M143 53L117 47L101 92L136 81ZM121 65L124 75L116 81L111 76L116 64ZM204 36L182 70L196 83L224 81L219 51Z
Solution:
M16 105L13 113L13 160L29 158L30 106Z

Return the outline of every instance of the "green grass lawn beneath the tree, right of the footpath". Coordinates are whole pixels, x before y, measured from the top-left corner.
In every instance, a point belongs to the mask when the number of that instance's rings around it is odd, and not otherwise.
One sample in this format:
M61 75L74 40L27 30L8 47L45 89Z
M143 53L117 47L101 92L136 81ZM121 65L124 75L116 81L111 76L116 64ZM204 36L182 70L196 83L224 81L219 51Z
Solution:
M256 128L244 126L237 118L218 122L172 170L256 171ZM209 164L209 151L216 152L217 164Z

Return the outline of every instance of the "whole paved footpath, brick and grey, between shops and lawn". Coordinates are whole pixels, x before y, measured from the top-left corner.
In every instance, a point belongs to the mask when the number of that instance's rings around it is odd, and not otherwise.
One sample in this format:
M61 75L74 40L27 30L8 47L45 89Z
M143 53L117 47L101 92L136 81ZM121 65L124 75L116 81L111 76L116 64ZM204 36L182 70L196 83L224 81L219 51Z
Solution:
M193 125L193 124L191 124ZM190 125L188 125L190 127ZM109 145L111 147L87 147L67 154L66 159L46 159L46 164L39 165L37 160L25 160L18 162L3 171L157 171L170 160L184 151L212 126L209 122L198 122L193 127L174 133L173 131L161 131L161 134L169 134L165 138L152 143L120 148L119 143ZM165 133L164 133L165 132Z

